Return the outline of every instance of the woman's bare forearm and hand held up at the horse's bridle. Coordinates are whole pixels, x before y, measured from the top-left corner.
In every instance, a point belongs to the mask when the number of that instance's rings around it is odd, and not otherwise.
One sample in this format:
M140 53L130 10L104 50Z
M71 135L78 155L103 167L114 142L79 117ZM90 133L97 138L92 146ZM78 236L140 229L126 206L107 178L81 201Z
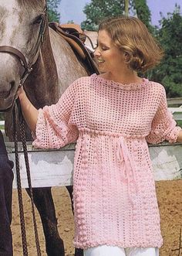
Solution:
M30 130L35 133L39 111L29 101L22 87L19 89L18 96L25 121L29 125Z

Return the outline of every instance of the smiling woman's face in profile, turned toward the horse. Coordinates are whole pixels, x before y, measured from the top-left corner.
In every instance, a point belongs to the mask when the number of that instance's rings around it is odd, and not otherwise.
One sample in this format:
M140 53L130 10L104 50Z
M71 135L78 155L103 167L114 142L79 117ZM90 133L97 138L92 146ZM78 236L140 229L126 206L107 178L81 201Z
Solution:
M126 67L124 52L113 44L106 30L99 30L94 56L101 73L116 73L116 70Z

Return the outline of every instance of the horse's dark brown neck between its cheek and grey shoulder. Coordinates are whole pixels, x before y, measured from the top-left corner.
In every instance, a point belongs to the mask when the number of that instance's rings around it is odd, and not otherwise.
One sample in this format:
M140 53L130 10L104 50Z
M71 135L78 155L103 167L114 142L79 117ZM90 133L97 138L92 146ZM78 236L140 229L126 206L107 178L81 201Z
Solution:
M45 40L38 60L25 83L25 91L35 108L42 108L45 104L54 104L59 99L58 73L48 30L45 32Z

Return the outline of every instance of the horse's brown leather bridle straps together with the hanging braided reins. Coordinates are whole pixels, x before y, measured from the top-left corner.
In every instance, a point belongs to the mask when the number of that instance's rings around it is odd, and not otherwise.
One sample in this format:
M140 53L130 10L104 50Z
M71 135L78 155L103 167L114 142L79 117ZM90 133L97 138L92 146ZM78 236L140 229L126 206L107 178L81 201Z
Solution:
M20 79L19 82L19 87L21 87L24 83L26 78L29 76L29 73L31 73L32 71L32 65L36 62L38 56L39 56L39 51L41 48L41 44L43 42L44 39L44 33L45 33L45 26L46 26L46 20L47 20L47 15L46 15L46 7L45 7L45 15L42 19L41 22L41 26L40 26L40 30L39 30L39 36L37 39L37 42L35 44L35 47L33 48L32 51L32 57L29 60L29 63L27 63L25 56L19 51L19 49L15 49L12 46L0 46L0 53L10 53L14 56L16 56L22 67L24 67L25 71L22 74L22 77ZM17 89L18 90L18 89ZM14 118L14 124L18 123L18 120L15 120L15 106L14 106L14 112L13 112L13 118ZM27 152L27 148L26 148L26 142L25 142L25 127L24 127L24 121L20 121L20 126L21 126L21 133L22 133L22 143L23 143L23 151L25 154L25 166L26 166L26 170L27 170L27 177L28 177L28 181L29 181L29 189L30 189L30 198L31 198L31 202L32 202L32 215L33 215L33 222L34 222L34 230L35 230L35 243L36 243L36 248L37 248L37 255L41 256L41 251L40 251L40 247L39 247L39 237L38 237L38 231L37 231L37 226L36 226L36 220L35 220L35 210L34 210L34 204L33 204L33 193L32 193L32 183L31 183L31 177L30 177L30 170L29 170L29 158L28 158L28 152ZM14 137L16 143L15 143L15 155L16 155L16 167L17 169L19 166L19 155L18 155L18 148L17 148L17 131L15 129L14 131L14 135L16 137ZM18 175L17 175L18 177ZM20 179L20 176L19 176ZM20 192L21 190L21 183L19 183L18 186L18 191L19 191L19 205L20 205L20 215L21 215L21 229L22 229L22 244L23 244L23 254L25 256L28 256L28 250L27 250L27 243L26 243L26 234L25 234L25 223L24 223L24 213L23 213L23 206L22 206L22 194Z

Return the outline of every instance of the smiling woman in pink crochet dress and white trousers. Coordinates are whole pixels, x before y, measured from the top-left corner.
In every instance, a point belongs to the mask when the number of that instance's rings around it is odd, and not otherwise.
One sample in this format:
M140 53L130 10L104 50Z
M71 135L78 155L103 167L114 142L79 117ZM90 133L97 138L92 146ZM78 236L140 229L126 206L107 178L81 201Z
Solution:
M137 75L162 55L139 19L106 19L95 51L102 74L79 78L39 111L19 91L36 147L77 141L74 244L85 256L154 256L162 245L147 142L182 142L182 132L163 86Z

